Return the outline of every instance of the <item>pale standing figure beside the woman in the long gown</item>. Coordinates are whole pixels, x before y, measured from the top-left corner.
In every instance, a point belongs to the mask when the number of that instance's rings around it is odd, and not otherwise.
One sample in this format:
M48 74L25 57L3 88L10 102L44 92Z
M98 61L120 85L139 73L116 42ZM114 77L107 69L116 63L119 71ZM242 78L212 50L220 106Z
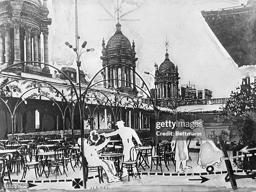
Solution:
M184 128L182 125L184 124L185 126L185 120L184 119L179 119L179 126L175 130L175 134L172 138L172 152L174 151L175 148L175 172L181 172L184 173L182 169L189 169L191 166L187 166L187 160L189 160L189 154L188 154L188 149L187 149L187 137L188 136L177 136L176 132L179 133L191 133L191 129ZM180 169L180 166L182 166L182 169Z

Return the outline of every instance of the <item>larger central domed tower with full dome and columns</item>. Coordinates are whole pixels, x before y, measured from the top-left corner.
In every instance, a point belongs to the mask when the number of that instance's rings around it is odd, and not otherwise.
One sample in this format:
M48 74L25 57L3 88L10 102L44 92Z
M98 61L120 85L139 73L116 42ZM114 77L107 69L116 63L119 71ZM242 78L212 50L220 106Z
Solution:
M110 37L107 46L105 46L104 38L102 40L102 56L100 59L102 60L102 67L108 66L102 72L103 79L108 80L103 82L103 86L137 95L136 75L133 72L136 70L136 61L138 60L135 57L135 44L133 41L131 46L129 39L123 35L119 22L115 26L115 34Z

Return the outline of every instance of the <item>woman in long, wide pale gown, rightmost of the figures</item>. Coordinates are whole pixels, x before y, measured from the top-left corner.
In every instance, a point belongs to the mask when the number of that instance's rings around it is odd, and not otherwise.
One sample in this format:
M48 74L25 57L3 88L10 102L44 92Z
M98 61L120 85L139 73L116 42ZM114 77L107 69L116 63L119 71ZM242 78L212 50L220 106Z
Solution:
M198 122L199 125L202 125L202 123L200 123L202 122L202 119L195 120L194 122ZM194 128L193 132L201 133L201 135L197 137L202 140L197 164L202 168L211 166L215 163L217 163L219 166L223 153L218 147L215 146L212 140L206 137L205 128L203 126L198 126L197 128Z

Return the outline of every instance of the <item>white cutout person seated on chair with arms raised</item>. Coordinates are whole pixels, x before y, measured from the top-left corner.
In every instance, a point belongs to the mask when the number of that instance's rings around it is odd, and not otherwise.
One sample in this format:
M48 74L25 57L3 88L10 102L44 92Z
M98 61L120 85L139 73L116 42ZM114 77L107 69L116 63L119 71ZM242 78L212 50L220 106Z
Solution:
M96 133L95 130L90 132L89 138L84 138L84 156L88 162L88 165L90 166L102 166L104 171L106 172L108 176L108 182L119 182L119 177L116 177L116 170L115 165L113 161L106 160L106 159L100 159L98 156L97 151L100 151L102 148L104 148L108 142L110 141L110 138L106 139L104 143L95 146L96 143L99 141L100 136L98 133ZM78 144L81 146L81 138L78 139Z

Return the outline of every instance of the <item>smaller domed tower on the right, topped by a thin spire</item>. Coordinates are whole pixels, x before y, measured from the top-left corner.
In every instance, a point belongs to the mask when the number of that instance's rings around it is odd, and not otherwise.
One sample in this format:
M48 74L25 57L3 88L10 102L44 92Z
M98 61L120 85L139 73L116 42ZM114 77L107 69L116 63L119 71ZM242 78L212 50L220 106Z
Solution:
M179 85L179 73L178 67L172 63L169 59L167 52L164 62L156 67L156 91L158 100L172 100L178 98L178 85Z

